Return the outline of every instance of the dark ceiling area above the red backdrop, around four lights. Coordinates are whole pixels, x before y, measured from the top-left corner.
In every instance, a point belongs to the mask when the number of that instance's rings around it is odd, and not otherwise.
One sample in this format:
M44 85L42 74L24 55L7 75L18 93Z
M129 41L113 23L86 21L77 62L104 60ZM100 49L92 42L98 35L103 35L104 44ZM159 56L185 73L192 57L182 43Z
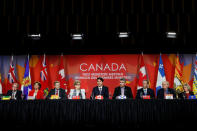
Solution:
M1 54L195 53L195 0L1 0ZM176 39L166 32L177 33ZM120 39L118 32L129 32ZM40 33L40 40L27 34ZM70 34L83 33L83 40Z

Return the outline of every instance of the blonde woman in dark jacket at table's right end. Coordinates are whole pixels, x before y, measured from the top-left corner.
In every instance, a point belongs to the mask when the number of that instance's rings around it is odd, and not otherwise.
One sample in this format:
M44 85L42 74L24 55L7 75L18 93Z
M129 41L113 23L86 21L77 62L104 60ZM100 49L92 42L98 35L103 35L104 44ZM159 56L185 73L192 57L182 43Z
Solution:
M194 95L191 91L191 87L188 83L183 84L183 92L178 95L179 99L189 99L190 95Z

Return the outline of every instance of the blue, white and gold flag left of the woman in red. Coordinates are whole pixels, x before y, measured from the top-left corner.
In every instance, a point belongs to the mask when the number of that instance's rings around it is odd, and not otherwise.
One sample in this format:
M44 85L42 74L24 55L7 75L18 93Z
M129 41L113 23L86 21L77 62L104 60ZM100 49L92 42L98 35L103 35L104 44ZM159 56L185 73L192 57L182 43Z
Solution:
M26 62L25 74L24 74L21 90L24 95L24 99L27 99L29 91L32 90L31 76L30 76L30 69L29 69L29 56Z

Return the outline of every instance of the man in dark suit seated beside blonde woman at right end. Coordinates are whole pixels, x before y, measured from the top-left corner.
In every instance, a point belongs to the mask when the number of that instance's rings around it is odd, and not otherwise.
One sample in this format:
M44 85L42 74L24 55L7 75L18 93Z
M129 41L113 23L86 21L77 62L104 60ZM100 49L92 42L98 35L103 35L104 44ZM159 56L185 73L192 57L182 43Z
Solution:
M168 99L167 96L169 95L173 97L172 99L176 99L174 89L169 88L168 81L164 81L162 82L162 88L157 91L157 99Z

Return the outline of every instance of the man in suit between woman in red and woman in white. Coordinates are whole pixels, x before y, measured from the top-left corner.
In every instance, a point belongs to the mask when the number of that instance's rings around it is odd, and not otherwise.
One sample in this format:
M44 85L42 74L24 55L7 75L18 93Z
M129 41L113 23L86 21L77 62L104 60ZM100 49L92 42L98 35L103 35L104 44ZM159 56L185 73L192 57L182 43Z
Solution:
M60 88L60 82L59 81L55 81L54 82L54 89L51 89L47 99L51 98L51 95L57 95L59 97L59 99L67 99L67 95L64 89Z

